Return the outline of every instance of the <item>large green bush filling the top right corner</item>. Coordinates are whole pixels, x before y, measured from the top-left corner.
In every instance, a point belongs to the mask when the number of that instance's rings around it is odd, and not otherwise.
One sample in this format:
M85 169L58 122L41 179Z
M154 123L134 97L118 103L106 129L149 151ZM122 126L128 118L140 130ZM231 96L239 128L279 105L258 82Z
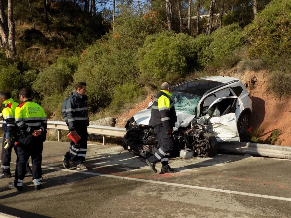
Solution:
M244 29L249 58L279 56L291 52L291 1L273 0Z

